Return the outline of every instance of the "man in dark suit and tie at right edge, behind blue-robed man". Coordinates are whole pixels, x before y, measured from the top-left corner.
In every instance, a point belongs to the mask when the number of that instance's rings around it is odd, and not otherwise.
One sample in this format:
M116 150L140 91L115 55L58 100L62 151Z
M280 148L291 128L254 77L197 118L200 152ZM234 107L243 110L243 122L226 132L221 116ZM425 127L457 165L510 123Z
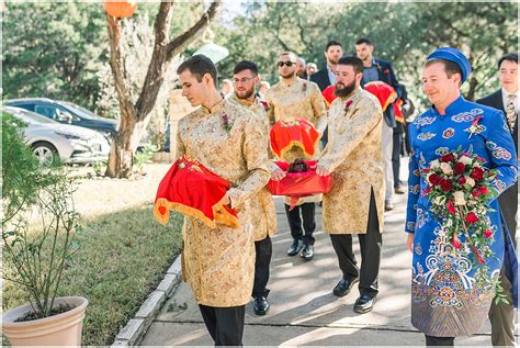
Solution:
M500 89L483 99L477 103L493 106L504 111L508 119L509 131L515 141L518 154L518 54L508 53L498 59L498 79ZM518 156L518 155L517 155ZM506 225L516 243L517 231L517 211L518 211L518 182L498 197L500 210L504 212ZM489 310L489 321L491 322L491 343L494 346L515 346L515 308L509 292L510 283L506 277L500 277L501 285L508 293L509 304L498 304L495 302Z

